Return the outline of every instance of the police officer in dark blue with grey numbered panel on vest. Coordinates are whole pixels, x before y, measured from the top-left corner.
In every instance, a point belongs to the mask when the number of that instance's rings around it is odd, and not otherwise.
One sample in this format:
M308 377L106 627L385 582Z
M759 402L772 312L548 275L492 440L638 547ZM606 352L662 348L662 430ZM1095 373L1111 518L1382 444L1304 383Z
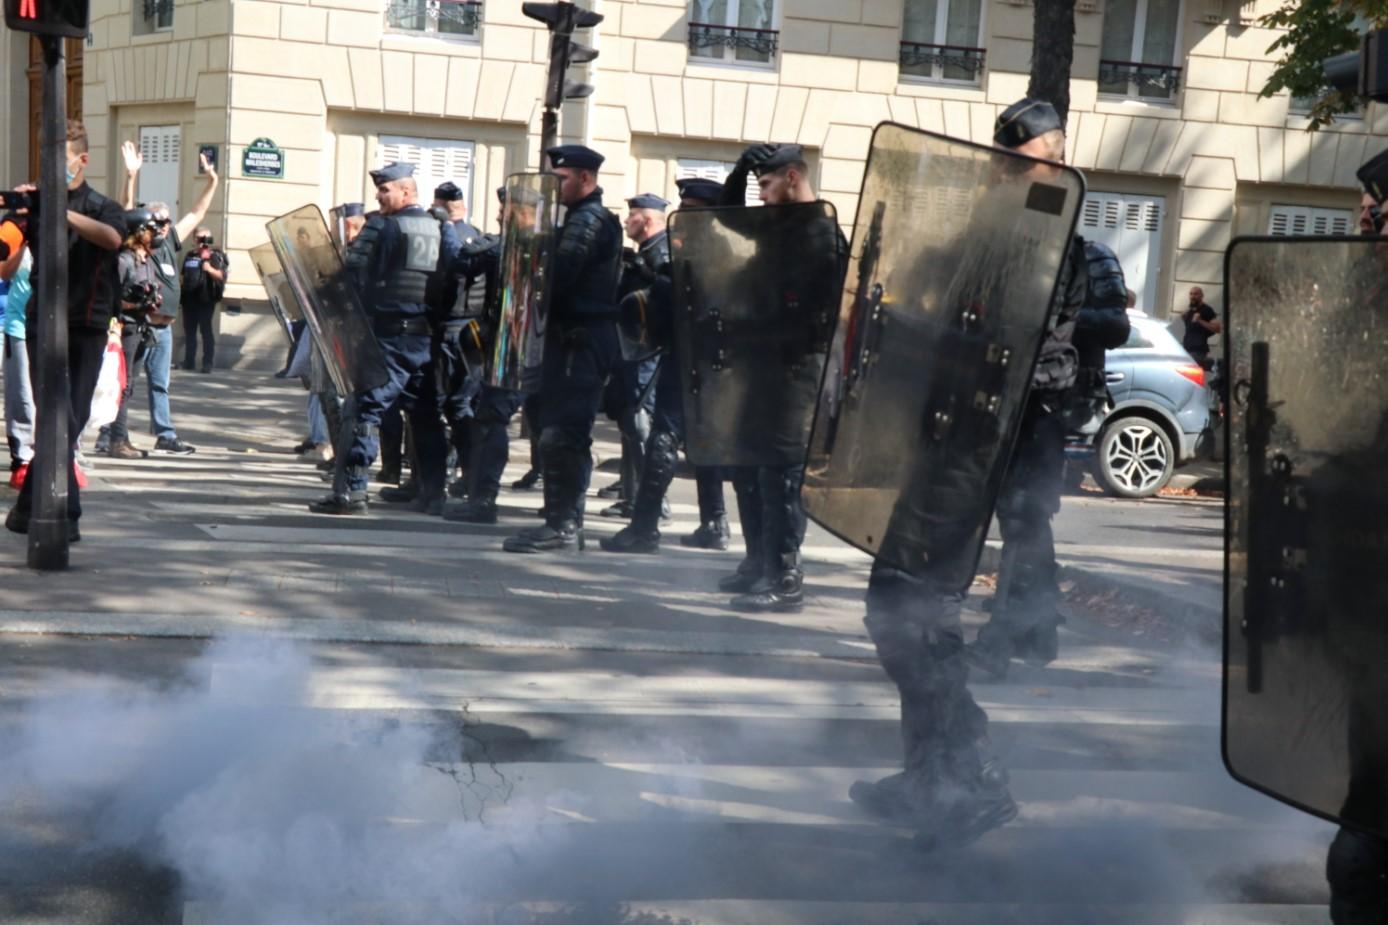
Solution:
M315 514L366 510L366 472L376 457L378 426L396 401L409 412L419 460L421 493L414 507L443 512L446 444L426 304L439 268L441 235L439 221L419 206L414 169L411 164L387 164L371 171L380 212L368 219L344 254L384 354L387 381L353 396L351 426L344 421L333 492L308 506Z

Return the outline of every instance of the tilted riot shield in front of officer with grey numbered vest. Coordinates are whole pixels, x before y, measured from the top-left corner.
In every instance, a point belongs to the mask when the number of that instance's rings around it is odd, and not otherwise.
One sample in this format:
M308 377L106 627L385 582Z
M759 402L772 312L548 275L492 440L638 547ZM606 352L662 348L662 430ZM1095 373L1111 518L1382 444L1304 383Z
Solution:
M323 214L316 206L304 206L266 222L265 229L337 392L353 394L383 385L386 358Z

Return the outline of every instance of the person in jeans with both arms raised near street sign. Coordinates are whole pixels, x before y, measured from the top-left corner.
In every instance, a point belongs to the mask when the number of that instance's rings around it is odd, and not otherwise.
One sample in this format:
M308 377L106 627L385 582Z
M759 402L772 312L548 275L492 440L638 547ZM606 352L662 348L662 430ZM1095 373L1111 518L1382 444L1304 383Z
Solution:
M125 161L125 189L124 200L135 201L135 188L139 181L140 168L144 158L140 150L130 142L121 146L121 156ZM150 256L153 257L153 272L160 288L160 312L150 317L151 332L150 344L144 353L144 372L150 393L150 426L154 432L154 451L187 456L194 447L185 443L169 415L169 371L174 367L174 322L178 319L179 303L183 300L183 283L179 267L178 251L183 242L193 235L193 231L207 217L207 210L217 194L218 175L205 157L198 157L198 165L207 178L203 192L198 194L193 208L183 214L176 222L172 219L169 207L165 203L149 203L146 208L154 217L154 236L150 242ZM124 406L122 406L124 410Z

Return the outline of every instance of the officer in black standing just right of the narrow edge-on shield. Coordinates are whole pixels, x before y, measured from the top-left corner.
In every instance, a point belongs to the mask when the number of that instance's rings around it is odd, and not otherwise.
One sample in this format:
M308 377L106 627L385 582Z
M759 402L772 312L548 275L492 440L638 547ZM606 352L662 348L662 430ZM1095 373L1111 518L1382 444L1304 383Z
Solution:
M582 144L545 154L568 207L550 271L552 297L540 385L544 525L508 538L508 553L583 549L583 499L593 475L593 422L620 358L616 288L622 225L602 207L602 156Z

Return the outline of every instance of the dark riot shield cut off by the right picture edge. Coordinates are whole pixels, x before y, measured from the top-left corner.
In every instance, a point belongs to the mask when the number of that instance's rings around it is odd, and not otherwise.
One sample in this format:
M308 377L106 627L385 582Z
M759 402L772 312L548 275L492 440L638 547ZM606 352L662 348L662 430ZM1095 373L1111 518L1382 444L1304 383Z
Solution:
M1388 240L1235 240L1224 762L1388 835Z

